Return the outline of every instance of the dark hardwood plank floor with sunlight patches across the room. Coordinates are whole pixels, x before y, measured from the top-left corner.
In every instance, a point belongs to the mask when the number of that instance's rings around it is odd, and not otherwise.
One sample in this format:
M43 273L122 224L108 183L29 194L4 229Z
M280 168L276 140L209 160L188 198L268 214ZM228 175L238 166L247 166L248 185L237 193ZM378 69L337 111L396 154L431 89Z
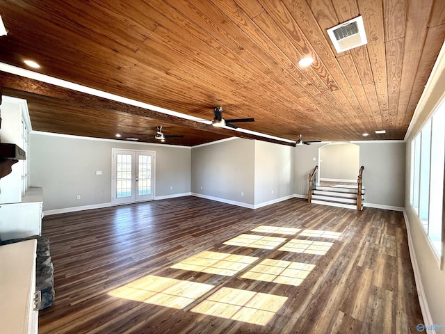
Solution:
M417 333L423 323L401 212L184 197L47 216L42 234L56 301L39 333Z

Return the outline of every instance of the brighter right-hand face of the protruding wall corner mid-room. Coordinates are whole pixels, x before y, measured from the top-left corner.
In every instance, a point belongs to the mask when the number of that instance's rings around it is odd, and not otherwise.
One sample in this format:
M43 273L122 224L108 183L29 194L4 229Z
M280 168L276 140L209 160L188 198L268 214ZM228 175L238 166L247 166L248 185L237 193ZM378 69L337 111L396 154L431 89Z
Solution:
M255 141L254 203L270 203L293 197L294 148Z

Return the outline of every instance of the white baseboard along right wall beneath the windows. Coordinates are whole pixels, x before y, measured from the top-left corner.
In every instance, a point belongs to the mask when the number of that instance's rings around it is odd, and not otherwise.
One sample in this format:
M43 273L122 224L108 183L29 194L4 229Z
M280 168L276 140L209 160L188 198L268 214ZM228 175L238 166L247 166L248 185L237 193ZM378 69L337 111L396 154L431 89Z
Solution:
M403 218L405 218L408 249L410 250L412 270L414 271L414 282L416 282L417 295L419 296L419 304L422 311L423 321L426 326L431 326L433 324L432 317L430 308L428 308L428 301L426 300L425 290L423 290L419 264L417 264L416 250L414 250L414 244L412 243L410 221L408 220L408 215L406 214L405 208L403 209ZM435 334L436 331L427 329L426 333Z

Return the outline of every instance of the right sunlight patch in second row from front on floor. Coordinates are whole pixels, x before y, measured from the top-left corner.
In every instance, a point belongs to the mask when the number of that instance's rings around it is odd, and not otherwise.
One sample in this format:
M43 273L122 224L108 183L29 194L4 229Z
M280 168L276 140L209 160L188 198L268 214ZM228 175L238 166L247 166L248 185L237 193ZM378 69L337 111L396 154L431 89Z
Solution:
M314 268L315 264L265 259L241 278L298 286Z

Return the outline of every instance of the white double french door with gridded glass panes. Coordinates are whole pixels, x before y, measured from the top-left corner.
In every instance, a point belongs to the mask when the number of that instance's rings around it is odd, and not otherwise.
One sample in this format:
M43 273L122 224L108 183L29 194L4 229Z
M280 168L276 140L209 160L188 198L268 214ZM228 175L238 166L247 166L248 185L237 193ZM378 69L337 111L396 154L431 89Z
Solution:
M113 148L113 205L154 199L154 151Z

